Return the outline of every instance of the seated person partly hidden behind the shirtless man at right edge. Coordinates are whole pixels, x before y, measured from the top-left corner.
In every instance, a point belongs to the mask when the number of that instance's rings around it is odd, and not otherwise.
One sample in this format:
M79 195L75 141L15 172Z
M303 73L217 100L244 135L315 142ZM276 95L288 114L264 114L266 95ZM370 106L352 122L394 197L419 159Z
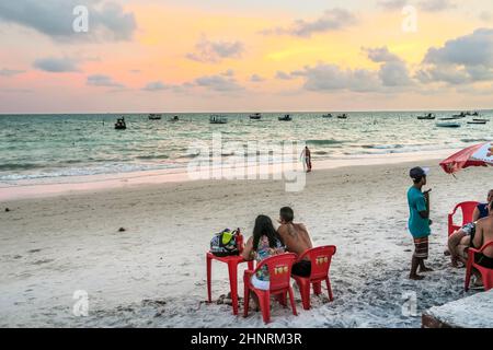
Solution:
M486 218L489 214L489 203L493 201L493 189L488 192L486 203L480 203L472 213L472 222L460 228L448 237L448 250L450 253L451 265L458 267L458 260L466 265L467 248L474 236L475 223L478 220Z

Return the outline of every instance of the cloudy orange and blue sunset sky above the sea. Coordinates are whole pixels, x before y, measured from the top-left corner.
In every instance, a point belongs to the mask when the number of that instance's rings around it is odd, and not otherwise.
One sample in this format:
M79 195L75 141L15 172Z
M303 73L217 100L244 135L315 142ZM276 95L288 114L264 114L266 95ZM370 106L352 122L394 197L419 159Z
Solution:
M3 0L0 114L493 108L491 0Z

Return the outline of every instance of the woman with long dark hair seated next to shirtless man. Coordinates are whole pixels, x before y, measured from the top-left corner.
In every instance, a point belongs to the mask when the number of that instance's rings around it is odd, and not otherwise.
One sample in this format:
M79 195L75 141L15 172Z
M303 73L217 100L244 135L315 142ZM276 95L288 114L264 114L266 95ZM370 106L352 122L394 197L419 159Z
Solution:
M246 241L243 249L243 258L245 260L255 259L259 264L271 256L283 253L285 253L283 240L274 229L271 218L259 215L253 228L253 236ZM252 284L256 289L270 289L268 268L266 266L252 276Z

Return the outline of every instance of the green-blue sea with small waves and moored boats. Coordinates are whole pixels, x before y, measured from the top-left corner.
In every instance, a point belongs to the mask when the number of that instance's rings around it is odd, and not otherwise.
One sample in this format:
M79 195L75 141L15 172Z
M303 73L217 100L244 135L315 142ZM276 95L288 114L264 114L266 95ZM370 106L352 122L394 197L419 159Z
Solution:
M460 110L437 112L437 119ZM261 120L245 114L223 114L228 124L209 124L207 114L0 115L0 182L184 168L194 156L194 141L305 141L318 160L364 158L368 154L414 153L457 149L493 140L493 124L460 128L436 127L438 120L417 120L425 112L348 113L348 119L322 118L324 113L264 113ZM169 119L177 115L179 121ZM493 110L481 112L489 118ZM125 117L126 130L114 122ZM225 154L228 156L228 154Z

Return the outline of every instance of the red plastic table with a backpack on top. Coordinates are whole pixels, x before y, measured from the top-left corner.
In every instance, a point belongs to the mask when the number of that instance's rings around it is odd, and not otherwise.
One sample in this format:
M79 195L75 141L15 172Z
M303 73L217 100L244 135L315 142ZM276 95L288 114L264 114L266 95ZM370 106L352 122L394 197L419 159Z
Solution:
M253 270L253 261L246 261L239 255L233 256L225 256L219 257L215 256L210 252L206 254L207 259L207 296L208 302L213 302L213 295L211 295L211 287L210 287L210 280L213 275L213 260L218 260L221 262L228 264L228 272L229 272L229 285L231 290L231 300L232 300L232 306L233 306L233 315L238 315L238 264L241 262L248 262L249 264L249 270Z

